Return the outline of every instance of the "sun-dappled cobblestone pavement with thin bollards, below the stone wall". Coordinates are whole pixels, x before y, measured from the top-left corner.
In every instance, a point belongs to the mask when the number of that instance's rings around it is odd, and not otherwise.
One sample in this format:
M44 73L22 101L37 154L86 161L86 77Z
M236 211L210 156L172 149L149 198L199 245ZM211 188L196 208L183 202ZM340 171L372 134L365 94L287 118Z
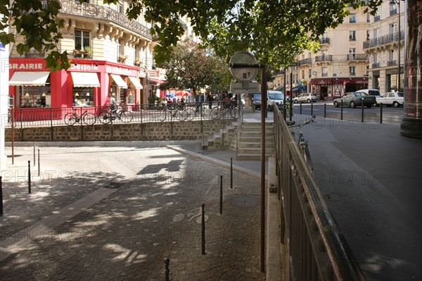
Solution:
M259 178L235 171L230 189L226 168L165 147L40 154L39 175L31 147L15 148L2 171L2 281L165 280L166 257L170 280L264 280Z

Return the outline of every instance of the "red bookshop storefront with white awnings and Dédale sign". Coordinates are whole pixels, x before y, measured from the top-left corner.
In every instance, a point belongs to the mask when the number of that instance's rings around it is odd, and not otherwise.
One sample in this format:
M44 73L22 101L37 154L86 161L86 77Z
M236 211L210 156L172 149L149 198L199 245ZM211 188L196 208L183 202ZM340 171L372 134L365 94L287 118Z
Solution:
M72 59L68 70L49 72L44 58L10 58L9 93L14 108L108 106L110 97L138 104L139 67Z

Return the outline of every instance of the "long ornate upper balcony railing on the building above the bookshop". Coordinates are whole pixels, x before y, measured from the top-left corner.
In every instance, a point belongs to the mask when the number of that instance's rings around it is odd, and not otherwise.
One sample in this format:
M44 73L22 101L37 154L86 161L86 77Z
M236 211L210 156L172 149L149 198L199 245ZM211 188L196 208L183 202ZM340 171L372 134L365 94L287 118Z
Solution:
M107 6L84 3L74 0L60 0L60 13L67 15L78 15L98 20L112 21L117 25L122 25L143 37L152 39L150 30L145 25L138 23L136 20L129 20L127 15L119 13Z

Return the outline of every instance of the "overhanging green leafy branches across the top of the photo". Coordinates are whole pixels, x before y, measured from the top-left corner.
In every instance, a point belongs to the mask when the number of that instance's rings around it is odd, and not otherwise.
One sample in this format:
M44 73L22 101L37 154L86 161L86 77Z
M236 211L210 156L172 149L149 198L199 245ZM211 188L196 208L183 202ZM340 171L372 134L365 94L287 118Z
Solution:
M88 2L89 0L79 0ZM104 0L117 3L118 0ZM369 0L371 11L383 0ZM282 3L281 3L282 2ZM145 9L145 19L156 23L151 32L160 44L155 46L155 61L167 61L177 45L184 28L180 16L191 18L193 30L212 46L216 54L229 58L235 51L252 51L260 63L280 68L288 65L303 49L317 48L316 39L328 27L335 27L348 15L347 5L359 8L364 0L130 0L129 18L137 18ZM19 54L30 48L49 52L47 66L68 68L67 54L60 54L55 46L61 38L56 21L58 0L0 0L0 13L4 15L0 32L3 44L14 42L15 34L25 37L18 44ZM15 29L15 34L13 34Z

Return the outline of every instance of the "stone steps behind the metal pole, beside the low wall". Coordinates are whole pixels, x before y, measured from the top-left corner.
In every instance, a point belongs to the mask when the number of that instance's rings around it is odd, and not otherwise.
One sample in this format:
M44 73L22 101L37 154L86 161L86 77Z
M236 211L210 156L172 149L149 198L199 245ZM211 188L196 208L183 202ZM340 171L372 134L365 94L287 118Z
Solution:
M261 159L261 123L243 122L238 139L238 160ZM265 123L265 158L274 154L274 125Z

